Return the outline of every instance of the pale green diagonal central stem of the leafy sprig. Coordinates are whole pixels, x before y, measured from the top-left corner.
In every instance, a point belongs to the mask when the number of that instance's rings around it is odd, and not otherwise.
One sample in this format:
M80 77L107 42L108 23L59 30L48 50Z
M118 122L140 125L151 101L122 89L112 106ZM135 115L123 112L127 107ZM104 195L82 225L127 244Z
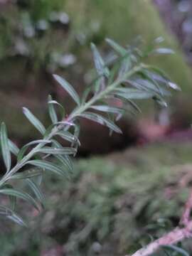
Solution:
M106 95L108 95L110 92L112 92L119 84L121 84L122 82L124 82L124 80L126 80L127 78L130 78L132 75L134 75L134 73L137 73L139 70L141 70L143 68L143 65L137 65L134 68L132 68L132 70L129 70L129 72L125 73L122 78L117 78L117 80L115 80L114 82L112 82L111 85L107 86L105 90L102 90L100 93L98 93L97 95L95 95L94 97L92 97L88 102L86 102L84 105L81 105L80 107L78 107L77 110L75 110L74 112L72 112L66 119L63 120L63 122L71 122L73 121L73 119L75 117L78 117L80 114L82 114L83 112L85 112L85 110L87 110L91 105L95 104L95 102L97 102L97 100L102 99L103 97L105 97ZM55 136L55 134L62 129L65 126L65 124L59 124L57 127L54 127L52 129L52 131L50 132L50 134L48 134L48 137L46 137L46 140L50 140L53 136ZM45 142L41 142L40 144L38 144L37 146L35 146L33 149L31 149L31 151L26 154L26 156L23 157L23 159L21 161L19 161L16 166L14 166L11 171L9 171L8 174L5 174L0 181L0 187L2 185L4 185L4 183L6 183L6 181L9 180L9 178L11 178L11 176L13 176L14 174L16 174L16 172L21 169L29 159L31 159L31 157L33 157L34 154L36 154L36 151L38 151L38 149L41 149L43 146L45 146L46 143Z

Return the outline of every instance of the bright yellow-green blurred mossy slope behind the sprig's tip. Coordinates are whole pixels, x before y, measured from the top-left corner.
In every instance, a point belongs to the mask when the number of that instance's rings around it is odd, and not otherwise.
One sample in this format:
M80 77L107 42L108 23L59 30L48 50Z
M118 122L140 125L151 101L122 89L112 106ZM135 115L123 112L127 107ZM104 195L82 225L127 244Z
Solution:
M75 31L85 32L98 27L97 33L114 38L119 43L131 43L142 36L146 45L163 36L166 46L176 50L176 55L159 57L153 62L185 91L191 91L191 69L185 63L176 38L161 21L151 1L143 0L80 0L66 1L65 9L72 16Z

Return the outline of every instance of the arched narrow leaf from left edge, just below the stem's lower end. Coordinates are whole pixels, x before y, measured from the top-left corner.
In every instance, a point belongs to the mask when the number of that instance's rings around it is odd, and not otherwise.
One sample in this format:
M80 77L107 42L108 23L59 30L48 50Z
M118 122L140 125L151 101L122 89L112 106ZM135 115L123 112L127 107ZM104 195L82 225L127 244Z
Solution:
M26 192L18 191L16 189L11 189L11 188L3 188L3 189L0 189L0 193L7 195L7 196L16 196L16 198L21 198L24 201L31 203L37 210L40 210L38 203L33 199L32 196L30 196Z

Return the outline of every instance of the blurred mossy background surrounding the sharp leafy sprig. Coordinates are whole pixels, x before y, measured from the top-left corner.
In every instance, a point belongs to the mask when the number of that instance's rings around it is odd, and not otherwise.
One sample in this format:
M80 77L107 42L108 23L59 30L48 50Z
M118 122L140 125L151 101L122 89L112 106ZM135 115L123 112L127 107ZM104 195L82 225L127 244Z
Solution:
M28 230L0 223L1 255L124 255L177 225L192 181L192 2L0 0L0 121L18 146L38 138L21 107L45 124L48 94L74 107L53 73L81 94L92 80L90 43L105 57L106 37L127 45L138 36L174 49L148 61L182 92L166 109L142 103L142 114L119 122L122 135L82 122L70 181L45 177L46 210L23 209Z

